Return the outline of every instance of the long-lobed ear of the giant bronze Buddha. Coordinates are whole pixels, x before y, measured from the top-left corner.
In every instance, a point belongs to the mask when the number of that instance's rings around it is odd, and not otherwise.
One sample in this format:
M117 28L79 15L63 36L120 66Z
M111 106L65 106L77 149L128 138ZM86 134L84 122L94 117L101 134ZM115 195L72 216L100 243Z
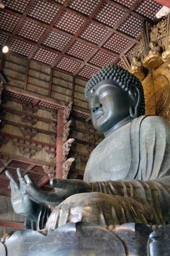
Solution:
M141 104L141 93L137 86L132 86L129 90L129 95L132 99L133 104L129 108L129 113L132 118L139 115L139 107Z

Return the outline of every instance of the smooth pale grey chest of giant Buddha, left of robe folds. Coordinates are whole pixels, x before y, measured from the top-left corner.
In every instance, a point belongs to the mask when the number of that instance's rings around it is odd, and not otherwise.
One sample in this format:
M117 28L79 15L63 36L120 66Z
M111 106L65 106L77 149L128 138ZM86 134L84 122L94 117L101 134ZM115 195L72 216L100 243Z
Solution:
M129 125L105 138L92 152L84 180L124 180L131 166Z

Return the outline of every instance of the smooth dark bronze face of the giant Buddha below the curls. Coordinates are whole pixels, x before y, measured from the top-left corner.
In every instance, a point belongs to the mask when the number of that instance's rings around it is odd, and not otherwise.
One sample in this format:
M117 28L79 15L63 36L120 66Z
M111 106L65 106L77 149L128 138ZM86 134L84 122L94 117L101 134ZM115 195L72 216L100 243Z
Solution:
M106 133L129 116L131 97L114 81L97 84L89 93L92 124L97 131Z

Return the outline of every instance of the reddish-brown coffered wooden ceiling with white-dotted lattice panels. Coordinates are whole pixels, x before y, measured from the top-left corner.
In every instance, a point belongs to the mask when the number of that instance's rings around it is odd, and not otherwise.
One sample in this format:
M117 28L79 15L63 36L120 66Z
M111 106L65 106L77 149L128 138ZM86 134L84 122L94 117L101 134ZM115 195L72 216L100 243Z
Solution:
M0 44L10 51L89 79L108 63L122 65L162 7L153 0L3 0Z

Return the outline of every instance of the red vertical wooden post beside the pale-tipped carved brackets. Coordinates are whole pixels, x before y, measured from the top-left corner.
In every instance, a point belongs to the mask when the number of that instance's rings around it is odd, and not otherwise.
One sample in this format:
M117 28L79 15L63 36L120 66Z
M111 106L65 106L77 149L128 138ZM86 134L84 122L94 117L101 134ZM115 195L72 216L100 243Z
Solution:
M57 139L56 139L56 173L57 179L62 179L62 145L63 145L63 112L62 109L57 111Z

